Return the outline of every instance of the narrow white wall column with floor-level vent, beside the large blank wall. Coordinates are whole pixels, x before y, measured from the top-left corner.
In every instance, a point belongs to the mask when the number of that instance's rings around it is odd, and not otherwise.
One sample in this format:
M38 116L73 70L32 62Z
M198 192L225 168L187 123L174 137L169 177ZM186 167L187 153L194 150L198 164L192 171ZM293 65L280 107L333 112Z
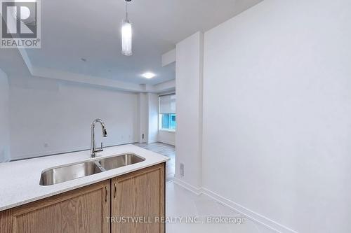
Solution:
M176 178L195 188L201 188L202 51L200 32L176 45Z

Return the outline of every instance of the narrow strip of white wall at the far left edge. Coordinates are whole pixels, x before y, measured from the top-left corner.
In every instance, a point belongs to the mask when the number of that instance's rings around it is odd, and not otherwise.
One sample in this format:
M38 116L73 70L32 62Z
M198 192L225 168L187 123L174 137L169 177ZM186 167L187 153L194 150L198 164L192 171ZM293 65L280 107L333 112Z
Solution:
M8 77L0 69L0 162L10 160L10 121L8 111Z

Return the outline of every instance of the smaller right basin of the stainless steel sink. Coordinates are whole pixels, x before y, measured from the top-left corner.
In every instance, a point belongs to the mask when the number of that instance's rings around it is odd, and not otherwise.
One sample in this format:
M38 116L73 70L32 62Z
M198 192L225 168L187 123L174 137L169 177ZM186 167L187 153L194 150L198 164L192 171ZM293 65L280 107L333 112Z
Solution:
M145 159L134 154L119 155L115 157L108 157L103 160L99 160L99 163L106 170L117 169L138 162L143 162Z

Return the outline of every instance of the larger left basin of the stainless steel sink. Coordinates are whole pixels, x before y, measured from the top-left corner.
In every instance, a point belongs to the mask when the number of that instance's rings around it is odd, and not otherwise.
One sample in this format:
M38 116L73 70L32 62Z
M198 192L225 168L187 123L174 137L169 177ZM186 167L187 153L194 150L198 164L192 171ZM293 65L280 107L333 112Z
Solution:
M102 172L95 162L57 167L41 173L40 185L54 185Z

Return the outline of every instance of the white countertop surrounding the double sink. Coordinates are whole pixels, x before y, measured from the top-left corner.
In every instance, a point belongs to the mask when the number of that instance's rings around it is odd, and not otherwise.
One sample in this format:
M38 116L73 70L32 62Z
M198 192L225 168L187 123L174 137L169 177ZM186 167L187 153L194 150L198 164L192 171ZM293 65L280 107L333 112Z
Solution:
M39 185L41 171L43 170L76 162L99 160L102 157L122 155L125 153L134 153L135 155L145 158L145 161L91 176L77 178L64 183L48 186ZM104 148L104 151L97 155L97 157L92 159L90 157L90 151L85 150L77 153L38 157L0 164L0 211L34 202L45 197L58 195L59 193L81 188L86 185L91 185L92 183L105 181L115 176L127 174L131 171L150 167L169 160L168 157L134 145Z

